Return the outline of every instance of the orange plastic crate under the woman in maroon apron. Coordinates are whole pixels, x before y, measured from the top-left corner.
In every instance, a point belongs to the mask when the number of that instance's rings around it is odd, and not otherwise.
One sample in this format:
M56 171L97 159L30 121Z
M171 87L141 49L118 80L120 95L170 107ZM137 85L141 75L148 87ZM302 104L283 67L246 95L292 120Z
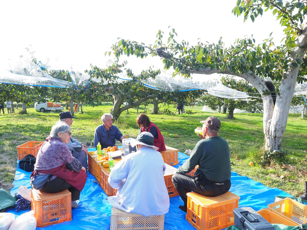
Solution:
M31 210L34 210L36 227L72 220L72 195L67 189L59 193L31 189Z

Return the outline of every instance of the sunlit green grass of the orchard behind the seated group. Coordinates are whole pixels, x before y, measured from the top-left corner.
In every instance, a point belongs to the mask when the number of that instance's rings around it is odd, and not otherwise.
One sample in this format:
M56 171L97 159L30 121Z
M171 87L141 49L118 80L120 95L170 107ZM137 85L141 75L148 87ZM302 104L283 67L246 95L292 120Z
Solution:
M201 126L199 121L214 115L222 122L220 136L229 143L232 171L266 186L277 187L294 196L304 191L304 181L307 180L307 119L301 119L300 114L290 114L288 118L282 142L286 157L272 158L269 165L263 166L262 114L235 114L235 119L229 120L222 113L201 112L202 106L185 106L185 110L190 109L196 113L181 115L176 113L173 105L160 106L160 110L169 108L176 115L153 115L152 105L146 107L146 112L161 130L166 145L181 152L193 149L200 140L194 129ZM83 143L93 143L95 128L102 124L100 117L103 113L109 113L111 107L111 103L104 103L98 107L84 106L85 113L77 113L77 117L73 119L72 136ZM139 107L139 112L144 110L143 106ZM51 126L59 119L58 112L41 113L33 108L28 108L27 111L25 115L19 114L17 109L14 114L0 115L0 186L6 190L10 190L16 171L16 146L29 140L45 140ZM129 109L129 114L123 112L114 125L119 127L122 133L128 133L130 137L135 138L139 132L135 122L137 116L136 109ZM116 144L120 145L119 142ZM248 165L250 161L254 166Z

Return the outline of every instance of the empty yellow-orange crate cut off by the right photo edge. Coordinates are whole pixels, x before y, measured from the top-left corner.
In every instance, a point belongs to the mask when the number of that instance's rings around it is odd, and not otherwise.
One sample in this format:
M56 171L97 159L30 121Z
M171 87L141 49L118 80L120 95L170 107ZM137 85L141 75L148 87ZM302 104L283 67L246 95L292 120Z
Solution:
M288 220L293 220L298 224L307 224L307 206L285 198L268 205L268 209L273 210L286 217Z

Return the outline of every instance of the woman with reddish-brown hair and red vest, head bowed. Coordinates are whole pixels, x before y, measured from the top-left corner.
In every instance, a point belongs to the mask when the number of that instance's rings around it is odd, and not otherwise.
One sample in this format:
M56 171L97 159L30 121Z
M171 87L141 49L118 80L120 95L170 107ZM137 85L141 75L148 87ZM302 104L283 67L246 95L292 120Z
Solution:
M153 135L153 145L158 147L158 151L165 151L164 138L159 128L153 124L145 113L141 113L136 118L136 123L140 127L140 132L150 132Z

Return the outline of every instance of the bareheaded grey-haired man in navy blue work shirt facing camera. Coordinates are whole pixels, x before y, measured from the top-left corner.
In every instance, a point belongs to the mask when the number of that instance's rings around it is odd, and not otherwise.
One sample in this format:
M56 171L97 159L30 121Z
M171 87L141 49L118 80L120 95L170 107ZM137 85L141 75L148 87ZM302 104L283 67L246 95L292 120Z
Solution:
M117 128L115 125L112 125L112 119L113 116L111 113L105 113L101 116L103 125L100 125L95 129L94 146L96 148L98 142L100 142L101 148L103 149L108 148L109 146L114 146L116 140L122 142L122 139L128 137L128 134L123 136L119 131L119 128Z

